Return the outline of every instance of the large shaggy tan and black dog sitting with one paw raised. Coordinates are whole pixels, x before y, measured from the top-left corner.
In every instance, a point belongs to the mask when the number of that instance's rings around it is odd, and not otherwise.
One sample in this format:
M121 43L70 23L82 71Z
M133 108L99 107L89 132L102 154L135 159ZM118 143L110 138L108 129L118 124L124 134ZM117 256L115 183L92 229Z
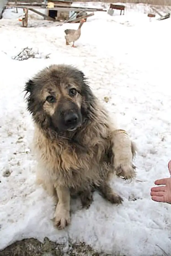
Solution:
M83 207L91 204L94 190L112 204L121 203L108 181L114 173L135 177L135 146L126 132L113 127L82 71L51 65L30 79L25 91L35 124L37 181L57 199L56 226L70 223L71 195L79 195ZM73 113L77 123L68 123Z

